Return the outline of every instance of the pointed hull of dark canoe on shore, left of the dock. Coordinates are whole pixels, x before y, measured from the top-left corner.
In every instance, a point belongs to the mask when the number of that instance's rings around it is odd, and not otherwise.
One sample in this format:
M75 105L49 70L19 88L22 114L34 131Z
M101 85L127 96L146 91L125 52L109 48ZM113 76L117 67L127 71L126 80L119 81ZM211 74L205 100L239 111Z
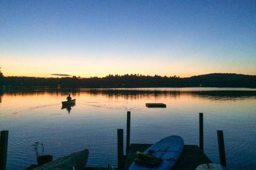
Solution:
M88 156L89 150L85 149L41 165L33 170L73 170L73 167L76 170L84 170Z

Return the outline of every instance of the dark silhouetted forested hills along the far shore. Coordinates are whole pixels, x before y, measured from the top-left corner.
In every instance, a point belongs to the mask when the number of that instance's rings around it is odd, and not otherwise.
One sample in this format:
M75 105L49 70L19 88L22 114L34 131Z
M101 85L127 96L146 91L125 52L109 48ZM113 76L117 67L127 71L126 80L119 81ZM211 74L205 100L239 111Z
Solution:
M0 80L1 82L1 80ZM161 77L137 74L106 77L2 77L5 86L52 86L84 88L150 88L150 87L246 87L256 88L256 76L243 74L204 74L193 77Z

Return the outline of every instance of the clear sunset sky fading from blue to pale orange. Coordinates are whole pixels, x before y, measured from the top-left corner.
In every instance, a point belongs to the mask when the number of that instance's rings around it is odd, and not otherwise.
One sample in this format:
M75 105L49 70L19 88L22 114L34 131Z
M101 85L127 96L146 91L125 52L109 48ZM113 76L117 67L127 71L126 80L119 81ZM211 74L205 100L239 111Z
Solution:
M256 75L255 0L0 0L4 76Z

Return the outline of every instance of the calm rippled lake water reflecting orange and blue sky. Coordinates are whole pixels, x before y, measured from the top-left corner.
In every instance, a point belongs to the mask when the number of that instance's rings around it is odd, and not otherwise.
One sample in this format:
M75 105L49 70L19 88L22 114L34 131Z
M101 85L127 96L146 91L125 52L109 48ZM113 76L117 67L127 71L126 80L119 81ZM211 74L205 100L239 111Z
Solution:
M68 93L76 98L70 113L61 109ZM167 108L146 108L147 102ZM256 89L247 88L6 90L0 94L0 130L9 130L7 168L36 164L34 142L44 143L44 153L54 159L87 148L88 166L116 166L116 129L126 132L126 111L131 111L131 143L179 135L185 144L198 144L203 112L209 158L218 163L216 130L223 130L228 166L256 169Z

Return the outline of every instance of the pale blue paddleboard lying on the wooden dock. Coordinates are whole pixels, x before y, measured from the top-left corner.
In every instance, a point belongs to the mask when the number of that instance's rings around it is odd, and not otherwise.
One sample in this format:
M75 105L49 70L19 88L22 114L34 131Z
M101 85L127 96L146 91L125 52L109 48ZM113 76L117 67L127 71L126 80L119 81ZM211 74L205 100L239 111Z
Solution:
M159 166L147 167L133 163L129 170L169 170L175 166L183 151L184 141L180 136L168 136L149 147L144 154L160 157L163 161Z

